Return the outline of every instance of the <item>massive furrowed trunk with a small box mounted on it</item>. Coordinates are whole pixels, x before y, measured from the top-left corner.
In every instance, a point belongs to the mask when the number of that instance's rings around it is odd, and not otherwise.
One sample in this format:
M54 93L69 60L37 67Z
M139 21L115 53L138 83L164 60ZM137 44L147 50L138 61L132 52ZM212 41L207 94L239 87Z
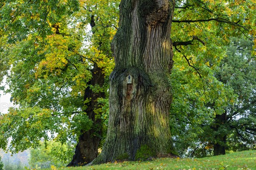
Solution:
M91 164L176 156L169 128L168 77L175 2L122 0L112 42L110 116L106 142Z

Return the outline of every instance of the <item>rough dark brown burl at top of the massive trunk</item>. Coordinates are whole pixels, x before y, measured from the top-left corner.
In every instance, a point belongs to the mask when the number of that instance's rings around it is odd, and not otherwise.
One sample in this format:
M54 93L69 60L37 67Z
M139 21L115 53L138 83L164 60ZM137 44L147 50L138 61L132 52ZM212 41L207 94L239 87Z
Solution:
M169 0L143 0L139 4L138 12L148 26L164 23L169 16Z

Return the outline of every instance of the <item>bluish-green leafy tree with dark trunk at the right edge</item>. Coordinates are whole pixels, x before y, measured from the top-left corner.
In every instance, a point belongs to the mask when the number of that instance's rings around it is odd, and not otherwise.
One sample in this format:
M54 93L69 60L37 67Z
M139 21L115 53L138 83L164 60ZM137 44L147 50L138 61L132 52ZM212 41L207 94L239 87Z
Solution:
M255 145L256 61L255 55L252 55L252 46L251 41L231 39L227 57L215 72L215 77L220 82L233 89L236 99L224 108L221 115L215 116L211 125L214 130L212 136L215 138L214 155L225 154L227 142L230 142L231 148L232 145L238 145L241 150L244 145L249 148ZM236 142L230 139L231 136Z

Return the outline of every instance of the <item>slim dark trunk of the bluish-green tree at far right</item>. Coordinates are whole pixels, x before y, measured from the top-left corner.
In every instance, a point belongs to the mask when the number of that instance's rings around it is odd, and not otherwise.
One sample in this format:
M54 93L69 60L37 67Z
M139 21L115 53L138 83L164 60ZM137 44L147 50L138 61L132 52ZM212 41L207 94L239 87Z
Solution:
M221 125L224 125L227 120L227 112L225 111L221 115L215 116L215 130L221 131ZM226 147L225 144L227 142L227 134L219 132L217 136L215 136L215 143L213 144L213 154L214 156L217 155L225 155L226 154Z

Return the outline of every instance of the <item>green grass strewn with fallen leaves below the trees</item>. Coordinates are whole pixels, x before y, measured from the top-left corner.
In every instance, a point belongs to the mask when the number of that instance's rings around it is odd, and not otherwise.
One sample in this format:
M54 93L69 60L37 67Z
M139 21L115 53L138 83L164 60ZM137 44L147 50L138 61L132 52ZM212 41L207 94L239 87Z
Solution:
M256 150L201 159L161 158L153 161L126 161L57 170L256 170Z

